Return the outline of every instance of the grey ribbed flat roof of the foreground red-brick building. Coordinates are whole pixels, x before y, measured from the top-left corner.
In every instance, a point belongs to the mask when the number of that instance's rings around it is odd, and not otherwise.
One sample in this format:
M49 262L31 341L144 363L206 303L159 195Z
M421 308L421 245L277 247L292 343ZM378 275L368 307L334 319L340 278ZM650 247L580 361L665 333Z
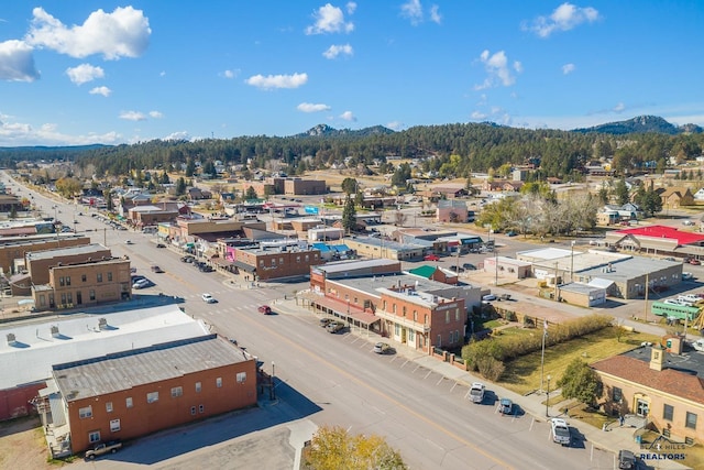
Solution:
M56 364L53 369L58 390L67 402L73 402L248 360L240 348L217 335L207 335Z

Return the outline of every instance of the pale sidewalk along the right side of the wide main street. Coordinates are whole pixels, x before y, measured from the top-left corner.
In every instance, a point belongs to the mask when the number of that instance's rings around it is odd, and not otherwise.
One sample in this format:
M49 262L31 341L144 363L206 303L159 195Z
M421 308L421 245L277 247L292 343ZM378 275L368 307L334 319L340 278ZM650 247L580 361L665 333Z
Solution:
M275 309L282 310L286 314L290 315L314 315L309 309L297 306L295 299L288 298L283 299L279 298L274 303ZM358 334L354 329L351 330L352 334ZM380 335L374 332L367 332L366 330L363 334L359 334L360 336L366 337L371 343L376 341L388 341L387 338L382 338ZM466 385L468 387L472 384L472 382L486 382L485 379L472 375L470 372L462 371L459 368L451 365L448 362L442 362L431 356L425 354L422 352L411 350L403 345L394 345L396 348L396 353L404 356L418 363L419 365L432 370L450 380L453 380L458 383ZM514 403L519 405L527 414L531 415L534 418L542 422L547 422L546 417L546 395L542 393L532 393L530 395L519 395L515 392L512 392L507 389L504 389L496 384L491 384L492 391L499 397L510 398ZM553 395L554 394L554 395ZM557 396L556 392L552 392L551 395ZM635 438L635 428L631 427L620 427L618 424L612 424L607 427L606 430L601 428L596 428L590 424L570 419L564 416L563 408L559 407L560 403L554 403L556 406L549 406L548 414L550 417L561 417L565 418L568 423L579 429L580 434L584 436L584 440L590 445L593 445L596 448L612 451L614 453L618 453L622 449L627 449L632 451L636 456L640 453L653 453L652 450L644 450L640 449L640 445L636 442ZM646 461L646 464L653 466L658 469L689 469L689 467L683 466L674 460L653 460Z

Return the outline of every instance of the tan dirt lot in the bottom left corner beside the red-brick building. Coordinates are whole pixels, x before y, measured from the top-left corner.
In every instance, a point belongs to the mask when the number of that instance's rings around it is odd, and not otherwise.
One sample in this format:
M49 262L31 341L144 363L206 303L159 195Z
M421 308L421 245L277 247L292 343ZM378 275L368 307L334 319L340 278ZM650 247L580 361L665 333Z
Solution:
M61 463L48 463L48 449L38 417L0 423L0 468L55 469Z

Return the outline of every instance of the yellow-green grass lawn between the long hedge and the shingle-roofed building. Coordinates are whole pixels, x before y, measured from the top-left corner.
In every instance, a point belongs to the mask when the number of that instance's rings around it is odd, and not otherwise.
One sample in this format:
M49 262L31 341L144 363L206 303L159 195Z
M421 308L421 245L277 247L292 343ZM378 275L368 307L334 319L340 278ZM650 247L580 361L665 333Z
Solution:
M506 334L509 330L510 328L507 328L503 332ZM653 335L626 332L618 341L615 328L604 328L582 338L546 348L544 376L550 374L552 376L551 383L556 384L574 358L581 358L585 362L592 363L635 349L644 341L658 342L658 340L659 338ZM541 351L536 351L506 362L506 370L498 382L521 395L539 390L540 358Z

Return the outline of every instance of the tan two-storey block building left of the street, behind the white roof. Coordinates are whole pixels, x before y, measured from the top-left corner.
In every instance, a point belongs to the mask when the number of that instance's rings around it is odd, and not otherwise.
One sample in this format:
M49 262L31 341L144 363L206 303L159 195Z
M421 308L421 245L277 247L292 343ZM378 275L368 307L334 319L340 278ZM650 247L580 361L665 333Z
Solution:
M32 285L32 298L38 309L74 308L131 297L129 259L61 263L50 267L46 284Z

